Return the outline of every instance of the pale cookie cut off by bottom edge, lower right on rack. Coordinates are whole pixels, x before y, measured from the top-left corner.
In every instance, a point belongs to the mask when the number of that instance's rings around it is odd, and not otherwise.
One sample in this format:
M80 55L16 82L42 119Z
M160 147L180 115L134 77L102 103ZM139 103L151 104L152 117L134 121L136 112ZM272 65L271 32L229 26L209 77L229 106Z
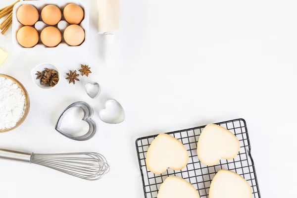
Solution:
M251 198L251 187L237 173L219 170L210 184L209 198Z

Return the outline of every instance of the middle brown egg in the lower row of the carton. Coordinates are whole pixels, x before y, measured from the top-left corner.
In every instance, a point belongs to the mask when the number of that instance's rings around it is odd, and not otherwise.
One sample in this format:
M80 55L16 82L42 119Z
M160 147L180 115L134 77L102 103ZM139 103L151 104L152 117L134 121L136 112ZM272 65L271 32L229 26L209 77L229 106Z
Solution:
M45 46L55 47L61 42L62 35L60 30L55 27L49 26L42 30L40 39Z

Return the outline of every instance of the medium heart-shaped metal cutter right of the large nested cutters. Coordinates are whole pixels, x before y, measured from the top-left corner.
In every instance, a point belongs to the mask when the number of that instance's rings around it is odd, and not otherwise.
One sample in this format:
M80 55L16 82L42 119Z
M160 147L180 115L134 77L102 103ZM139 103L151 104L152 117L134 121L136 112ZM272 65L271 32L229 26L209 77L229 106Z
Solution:
M118 101L109 99L105 102L105 108L99 111L99 118L108 124L118 124L125 120L125 112Z

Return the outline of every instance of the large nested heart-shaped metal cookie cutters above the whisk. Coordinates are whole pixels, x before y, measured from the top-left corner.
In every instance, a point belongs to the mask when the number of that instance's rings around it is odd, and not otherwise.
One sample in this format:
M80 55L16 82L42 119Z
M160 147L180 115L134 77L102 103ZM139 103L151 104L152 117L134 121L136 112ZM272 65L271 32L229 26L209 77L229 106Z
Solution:
M63 129L60 128L60 125L62 123L63 120L63 116L64 113L73 107L80 107L83 111L84 111L84 117L82 120L86 121L89 124L89 131L83 135L83 136L71 136L69 134L67 134ZM77 140L77 141L85 141L85 140L89 140L91 139L97 132L97 124L94 120L92 120L92 116L94 114L94 110L92 108L92 106L90 106L88 103L86 102L74 102L72 104L70 104L60 115L56 125L55 125L55 130L57 132L59 132L60 134L62 134L63 136L70 138L72 140Z

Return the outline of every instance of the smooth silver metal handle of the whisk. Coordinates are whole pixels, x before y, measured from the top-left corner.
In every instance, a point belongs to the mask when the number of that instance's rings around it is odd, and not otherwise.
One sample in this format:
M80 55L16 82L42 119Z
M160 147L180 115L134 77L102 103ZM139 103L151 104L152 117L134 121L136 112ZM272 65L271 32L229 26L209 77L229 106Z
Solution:
M0 149L0 159L31 163L31 154L14 150Z

